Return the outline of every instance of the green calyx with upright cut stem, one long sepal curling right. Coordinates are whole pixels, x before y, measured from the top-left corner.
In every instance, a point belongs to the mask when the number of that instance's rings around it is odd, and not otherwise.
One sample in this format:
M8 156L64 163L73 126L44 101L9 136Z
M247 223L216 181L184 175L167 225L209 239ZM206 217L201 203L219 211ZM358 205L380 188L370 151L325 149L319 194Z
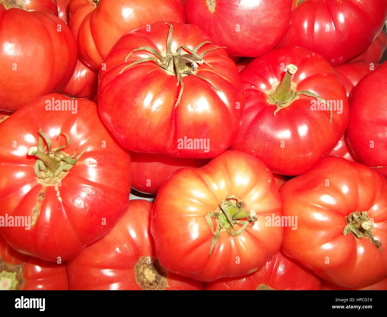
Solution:
M276 105L277 109L274 111L274 116L278 111L283 108L288 107L293 101L298 99L299 95L305 95L308 97L313 97L318 99L321 103L324 103L329 107L330 111L330 119L329 123L332 123L332 108L328 105L327 101L317 94L312 93L311 91L297 91L297 84L292 81L293 74L295 74L298 70L298 67L294 64L289 64L286 66L286 73L281 82L278 82L273 85L272 89L266 92L267 94L267 102L271 105Z

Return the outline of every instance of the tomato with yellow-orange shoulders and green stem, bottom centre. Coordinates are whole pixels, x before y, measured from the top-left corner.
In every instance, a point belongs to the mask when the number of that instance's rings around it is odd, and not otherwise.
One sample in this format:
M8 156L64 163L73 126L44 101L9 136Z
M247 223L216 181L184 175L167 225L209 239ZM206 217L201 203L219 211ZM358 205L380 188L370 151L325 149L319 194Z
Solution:
M226 151L202 168L177 170L161 185L151 231L163 267L210 282L264 266L281 246L283 227L267 225L278 216L271 171L253 156Z

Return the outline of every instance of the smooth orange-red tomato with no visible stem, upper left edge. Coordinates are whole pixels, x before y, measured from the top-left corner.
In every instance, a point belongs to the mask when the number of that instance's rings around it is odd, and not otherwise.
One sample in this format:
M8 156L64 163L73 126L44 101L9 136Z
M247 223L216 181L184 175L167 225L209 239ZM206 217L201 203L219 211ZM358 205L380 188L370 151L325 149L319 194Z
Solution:
M77 63L70 29L52 14L58 13L55 1L27 3L26 10L0 4L0 110L16 111L61 91Z

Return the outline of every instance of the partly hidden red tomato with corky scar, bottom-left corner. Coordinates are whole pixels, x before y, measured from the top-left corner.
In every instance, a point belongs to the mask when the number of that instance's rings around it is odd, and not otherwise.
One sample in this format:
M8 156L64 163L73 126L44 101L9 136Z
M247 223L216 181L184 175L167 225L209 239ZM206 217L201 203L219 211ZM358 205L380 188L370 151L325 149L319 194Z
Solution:
M0 235L0 290L68 290L65 264L47 262L12 249Z

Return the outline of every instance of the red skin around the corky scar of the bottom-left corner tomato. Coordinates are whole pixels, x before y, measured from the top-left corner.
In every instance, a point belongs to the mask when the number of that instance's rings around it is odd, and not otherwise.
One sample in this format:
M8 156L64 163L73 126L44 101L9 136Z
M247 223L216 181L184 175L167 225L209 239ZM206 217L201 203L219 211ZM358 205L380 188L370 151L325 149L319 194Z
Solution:
M8 264L23 264L22 290L69 290L66 264L47 262L12 249L0 235L0 259ZM0 271L1 273L1 271ZM1 279L0 279L1 288Z

